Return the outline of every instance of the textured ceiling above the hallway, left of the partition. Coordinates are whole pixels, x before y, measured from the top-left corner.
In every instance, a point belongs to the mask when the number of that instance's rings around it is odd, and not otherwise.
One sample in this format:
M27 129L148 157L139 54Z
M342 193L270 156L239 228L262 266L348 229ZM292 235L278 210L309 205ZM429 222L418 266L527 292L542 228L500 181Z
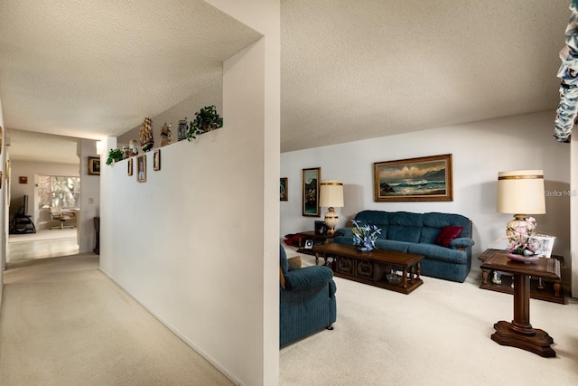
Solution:
M3 0L5 126L117 136L210 89L261 35L200 0Z

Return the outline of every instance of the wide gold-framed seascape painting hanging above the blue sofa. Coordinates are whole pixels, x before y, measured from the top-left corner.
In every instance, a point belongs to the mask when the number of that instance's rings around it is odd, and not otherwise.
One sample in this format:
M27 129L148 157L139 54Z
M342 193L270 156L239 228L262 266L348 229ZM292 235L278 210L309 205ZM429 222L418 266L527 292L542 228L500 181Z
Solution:
M452 155L373 164L375 201L452 201Z

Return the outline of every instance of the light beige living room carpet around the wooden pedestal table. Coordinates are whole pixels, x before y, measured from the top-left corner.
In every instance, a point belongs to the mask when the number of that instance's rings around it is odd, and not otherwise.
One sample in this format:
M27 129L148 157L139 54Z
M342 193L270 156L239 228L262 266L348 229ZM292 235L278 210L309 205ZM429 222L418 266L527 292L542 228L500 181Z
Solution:
M303 259L314 264L311 256ZM465 283L422 278L410 295L335 278L334 330L281 350L281 384L578 384L576 299L530 300L530 323L555 341L557 357L542 358L490 339L494 323L512 320L513 297L480 289L479 270Z

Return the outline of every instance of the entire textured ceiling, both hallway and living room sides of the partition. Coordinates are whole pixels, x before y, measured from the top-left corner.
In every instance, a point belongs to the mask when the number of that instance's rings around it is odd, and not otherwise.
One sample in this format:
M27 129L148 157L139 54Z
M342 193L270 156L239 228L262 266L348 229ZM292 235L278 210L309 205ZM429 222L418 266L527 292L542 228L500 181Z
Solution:
M281 0L281 150L555 109L569 5ZM258 38L200 0L4 0L5 127L120 135Z

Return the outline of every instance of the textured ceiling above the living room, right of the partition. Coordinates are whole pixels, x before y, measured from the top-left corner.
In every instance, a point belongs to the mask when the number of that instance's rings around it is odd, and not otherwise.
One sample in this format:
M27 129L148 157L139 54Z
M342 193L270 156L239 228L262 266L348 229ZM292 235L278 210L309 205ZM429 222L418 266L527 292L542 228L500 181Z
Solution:
M282 151L557 106L570 0L281 4Z

